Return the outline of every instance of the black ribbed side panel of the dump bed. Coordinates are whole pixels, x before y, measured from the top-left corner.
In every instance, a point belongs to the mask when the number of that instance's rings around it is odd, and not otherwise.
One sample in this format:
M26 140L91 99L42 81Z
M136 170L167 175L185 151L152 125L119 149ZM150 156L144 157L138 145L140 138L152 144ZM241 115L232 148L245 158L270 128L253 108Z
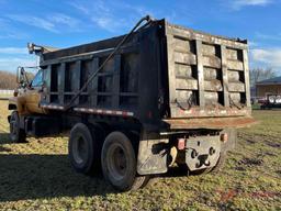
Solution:
M45 88L41 106L63 111L122 37L43 55ZM159 24L133 34L77 98L74 111L130 116L146 125L159 125L161 37L164 27Z

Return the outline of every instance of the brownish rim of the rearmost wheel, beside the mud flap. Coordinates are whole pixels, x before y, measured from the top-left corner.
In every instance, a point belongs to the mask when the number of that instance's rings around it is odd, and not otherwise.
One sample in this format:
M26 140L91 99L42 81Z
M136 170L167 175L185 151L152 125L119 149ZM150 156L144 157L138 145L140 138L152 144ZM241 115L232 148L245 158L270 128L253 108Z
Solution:
M127 157L122 145L113 144L108 152L108 167L112 177L121 180L127 171Z

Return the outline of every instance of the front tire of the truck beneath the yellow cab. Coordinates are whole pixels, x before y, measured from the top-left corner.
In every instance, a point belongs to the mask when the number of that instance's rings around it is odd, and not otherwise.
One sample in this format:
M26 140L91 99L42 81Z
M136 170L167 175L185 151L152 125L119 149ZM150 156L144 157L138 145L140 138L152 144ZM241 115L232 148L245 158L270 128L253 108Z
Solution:
M18 111L13 111L10 118L10 138L13 143L26 143L25 131L20 127Z

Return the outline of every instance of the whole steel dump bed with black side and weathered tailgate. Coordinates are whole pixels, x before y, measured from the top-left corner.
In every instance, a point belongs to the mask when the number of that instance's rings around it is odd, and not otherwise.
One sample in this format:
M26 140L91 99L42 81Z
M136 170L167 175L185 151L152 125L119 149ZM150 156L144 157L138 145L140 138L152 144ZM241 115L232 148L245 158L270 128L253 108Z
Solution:
M44 53L41 107L64 111L122 38ZM71 111L156 130L250 124L247 42L155 21L110 58Z

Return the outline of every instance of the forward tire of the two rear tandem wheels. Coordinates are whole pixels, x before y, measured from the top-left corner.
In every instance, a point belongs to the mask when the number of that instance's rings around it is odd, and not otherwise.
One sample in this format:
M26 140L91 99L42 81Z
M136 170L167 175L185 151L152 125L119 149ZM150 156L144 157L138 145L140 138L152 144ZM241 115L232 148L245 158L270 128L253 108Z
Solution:
M93 129L77 123L70 131L68 156L76 171L91 175L100 169L100 151Z

